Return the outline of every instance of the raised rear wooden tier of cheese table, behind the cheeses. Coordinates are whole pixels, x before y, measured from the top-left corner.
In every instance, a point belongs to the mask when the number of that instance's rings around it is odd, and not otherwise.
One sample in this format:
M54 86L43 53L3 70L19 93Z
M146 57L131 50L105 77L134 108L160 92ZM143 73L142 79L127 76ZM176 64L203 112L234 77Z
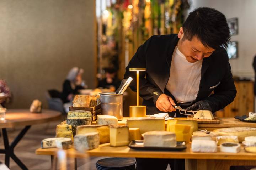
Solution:
M124 117L123 120L118 121L118 124L125 125L126 120L129 117ZM187 120L187 118L175 118L177 120ZM214 130L219 128L230 128L230 127L252 127L256 128L256 123L244 122L235 118L219 118L219 124L198 124L198 128L207 130ZM92 124L96 124L96 121L92 122ZM165 126L167 126L167 121L165 121Z

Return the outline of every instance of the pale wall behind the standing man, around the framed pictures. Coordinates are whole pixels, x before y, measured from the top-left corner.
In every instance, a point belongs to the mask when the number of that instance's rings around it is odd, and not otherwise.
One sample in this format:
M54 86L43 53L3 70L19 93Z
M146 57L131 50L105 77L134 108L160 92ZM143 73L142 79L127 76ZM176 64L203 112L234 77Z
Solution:
M254 78L252 61L256 55L256 0L190 0L191 8L211 7L222 12L227 19L238 17L238 35L231 41L238 41L238 58L231 59L233 75Z

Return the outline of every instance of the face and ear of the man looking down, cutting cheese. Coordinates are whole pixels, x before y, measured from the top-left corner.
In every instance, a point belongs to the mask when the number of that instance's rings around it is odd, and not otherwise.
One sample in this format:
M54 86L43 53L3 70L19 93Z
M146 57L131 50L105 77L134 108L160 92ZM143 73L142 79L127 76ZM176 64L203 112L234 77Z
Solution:
M215 51L215 49L204 46L195 36L191 41L187 39L183 40L183 36L183 29L181 27L180 32L178 33L180 40L177 46L190 63L203 60L203 58L209 57Z

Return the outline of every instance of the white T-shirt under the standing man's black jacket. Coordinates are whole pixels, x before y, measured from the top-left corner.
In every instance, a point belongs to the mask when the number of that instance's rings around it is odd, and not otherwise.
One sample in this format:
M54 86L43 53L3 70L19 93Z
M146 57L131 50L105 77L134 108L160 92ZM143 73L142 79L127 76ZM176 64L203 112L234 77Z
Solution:
M196 99L201 79L202 62L202 60L194 63L188 62L178 47L175 47L166 89L178 103L187 103Z

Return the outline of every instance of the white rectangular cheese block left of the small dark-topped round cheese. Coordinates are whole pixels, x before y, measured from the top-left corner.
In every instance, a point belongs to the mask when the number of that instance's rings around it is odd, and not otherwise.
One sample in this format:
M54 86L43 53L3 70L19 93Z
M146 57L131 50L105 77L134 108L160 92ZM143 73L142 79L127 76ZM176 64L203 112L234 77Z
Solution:
M217 152L217 145L215 141L211 140L193 140L191 143L191 150L193 152Z

